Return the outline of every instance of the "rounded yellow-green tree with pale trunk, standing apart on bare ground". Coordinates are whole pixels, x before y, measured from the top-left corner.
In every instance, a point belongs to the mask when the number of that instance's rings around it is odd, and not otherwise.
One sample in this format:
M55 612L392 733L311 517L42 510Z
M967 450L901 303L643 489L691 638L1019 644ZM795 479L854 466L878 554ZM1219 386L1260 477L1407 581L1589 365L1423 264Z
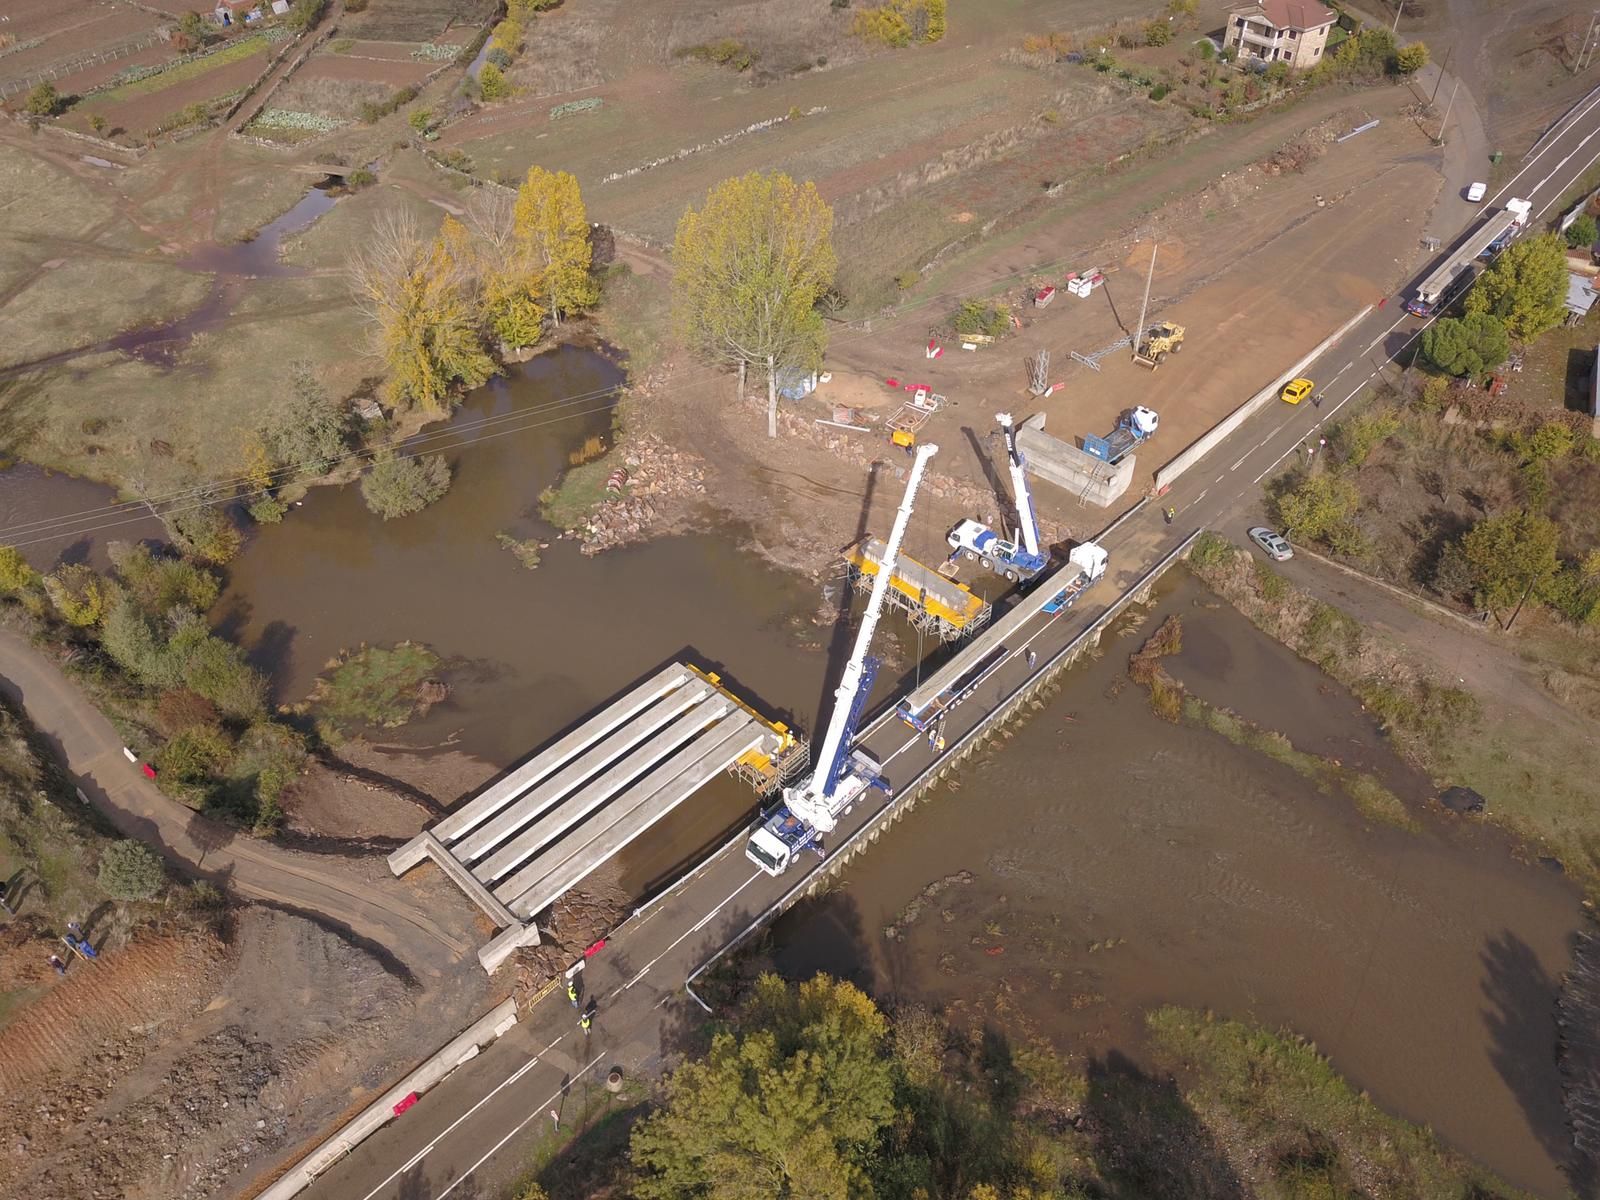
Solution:
M816 184L750 171L725 179L678 221L674 309L701 354L766 370L766 434L778 437L778 373L822 365L818 301L834 282L834 210Z

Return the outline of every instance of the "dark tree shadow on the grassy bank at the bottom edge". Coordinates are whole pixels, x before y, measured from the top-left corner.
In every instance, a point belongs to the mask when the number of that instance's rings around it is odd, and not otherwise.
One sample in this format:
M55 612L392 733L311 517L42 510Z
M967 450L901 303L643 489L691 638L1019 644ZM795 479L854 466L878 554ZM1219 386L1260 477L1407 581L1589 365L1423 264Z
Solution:
M1144 1074L1112 1050L1090 1059L1085 1118L1101 1174L1118 1194L1245 1200L1222 1147L1171 1078Z

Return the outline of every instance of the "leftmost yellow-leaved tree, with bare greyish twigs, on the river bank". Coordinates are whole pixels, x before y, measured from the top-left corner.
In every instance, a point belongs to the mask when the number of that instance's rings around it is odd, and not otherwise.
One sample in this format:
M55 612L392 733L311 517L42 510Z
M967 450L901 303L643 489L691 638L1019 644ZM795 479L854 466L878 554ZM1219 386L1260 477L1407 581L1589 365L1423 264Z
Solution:
M410 213L378 219L368 243L350 261L362 309L371 318L378 352L389 368L386 389L397 406L450 411L451 389L477 387L494 374L483 352L472 304L472 266L462 261L464 230L445 218L427 242Z

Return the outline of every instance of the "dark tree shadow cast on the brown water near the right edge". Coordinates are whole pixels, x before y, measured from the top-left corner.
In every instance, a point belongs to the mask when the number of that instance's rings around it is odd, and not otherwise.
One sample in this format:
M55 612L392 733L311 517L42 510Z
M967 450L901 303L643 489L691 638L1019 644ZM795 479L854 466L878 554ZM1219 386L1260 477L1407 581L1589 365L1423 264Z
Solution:
M1544 1152L1563 1171L1571 1171L1573 1139L1557 1066L1558 982L1546 973L1533 949L1509 930L1490 938L1478 957L1488 1002L1483 1022L1490 1034L1490 1059Z

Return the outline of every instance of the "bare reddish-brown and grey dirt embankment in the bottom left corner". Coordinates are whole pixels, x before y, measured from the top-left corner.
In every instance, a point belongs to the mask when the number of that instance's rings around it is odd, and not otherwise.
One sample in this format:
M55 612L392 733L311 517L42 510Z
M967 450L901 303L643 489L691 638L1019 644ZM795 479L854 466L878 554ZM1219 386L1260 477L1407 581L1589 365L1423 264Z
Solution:
M0 1192L224 1192L381 1086L394 1046L462 1022L475 990L421 1005L373 954L261 907L226 939L152 938L74 963L0 1035Z

